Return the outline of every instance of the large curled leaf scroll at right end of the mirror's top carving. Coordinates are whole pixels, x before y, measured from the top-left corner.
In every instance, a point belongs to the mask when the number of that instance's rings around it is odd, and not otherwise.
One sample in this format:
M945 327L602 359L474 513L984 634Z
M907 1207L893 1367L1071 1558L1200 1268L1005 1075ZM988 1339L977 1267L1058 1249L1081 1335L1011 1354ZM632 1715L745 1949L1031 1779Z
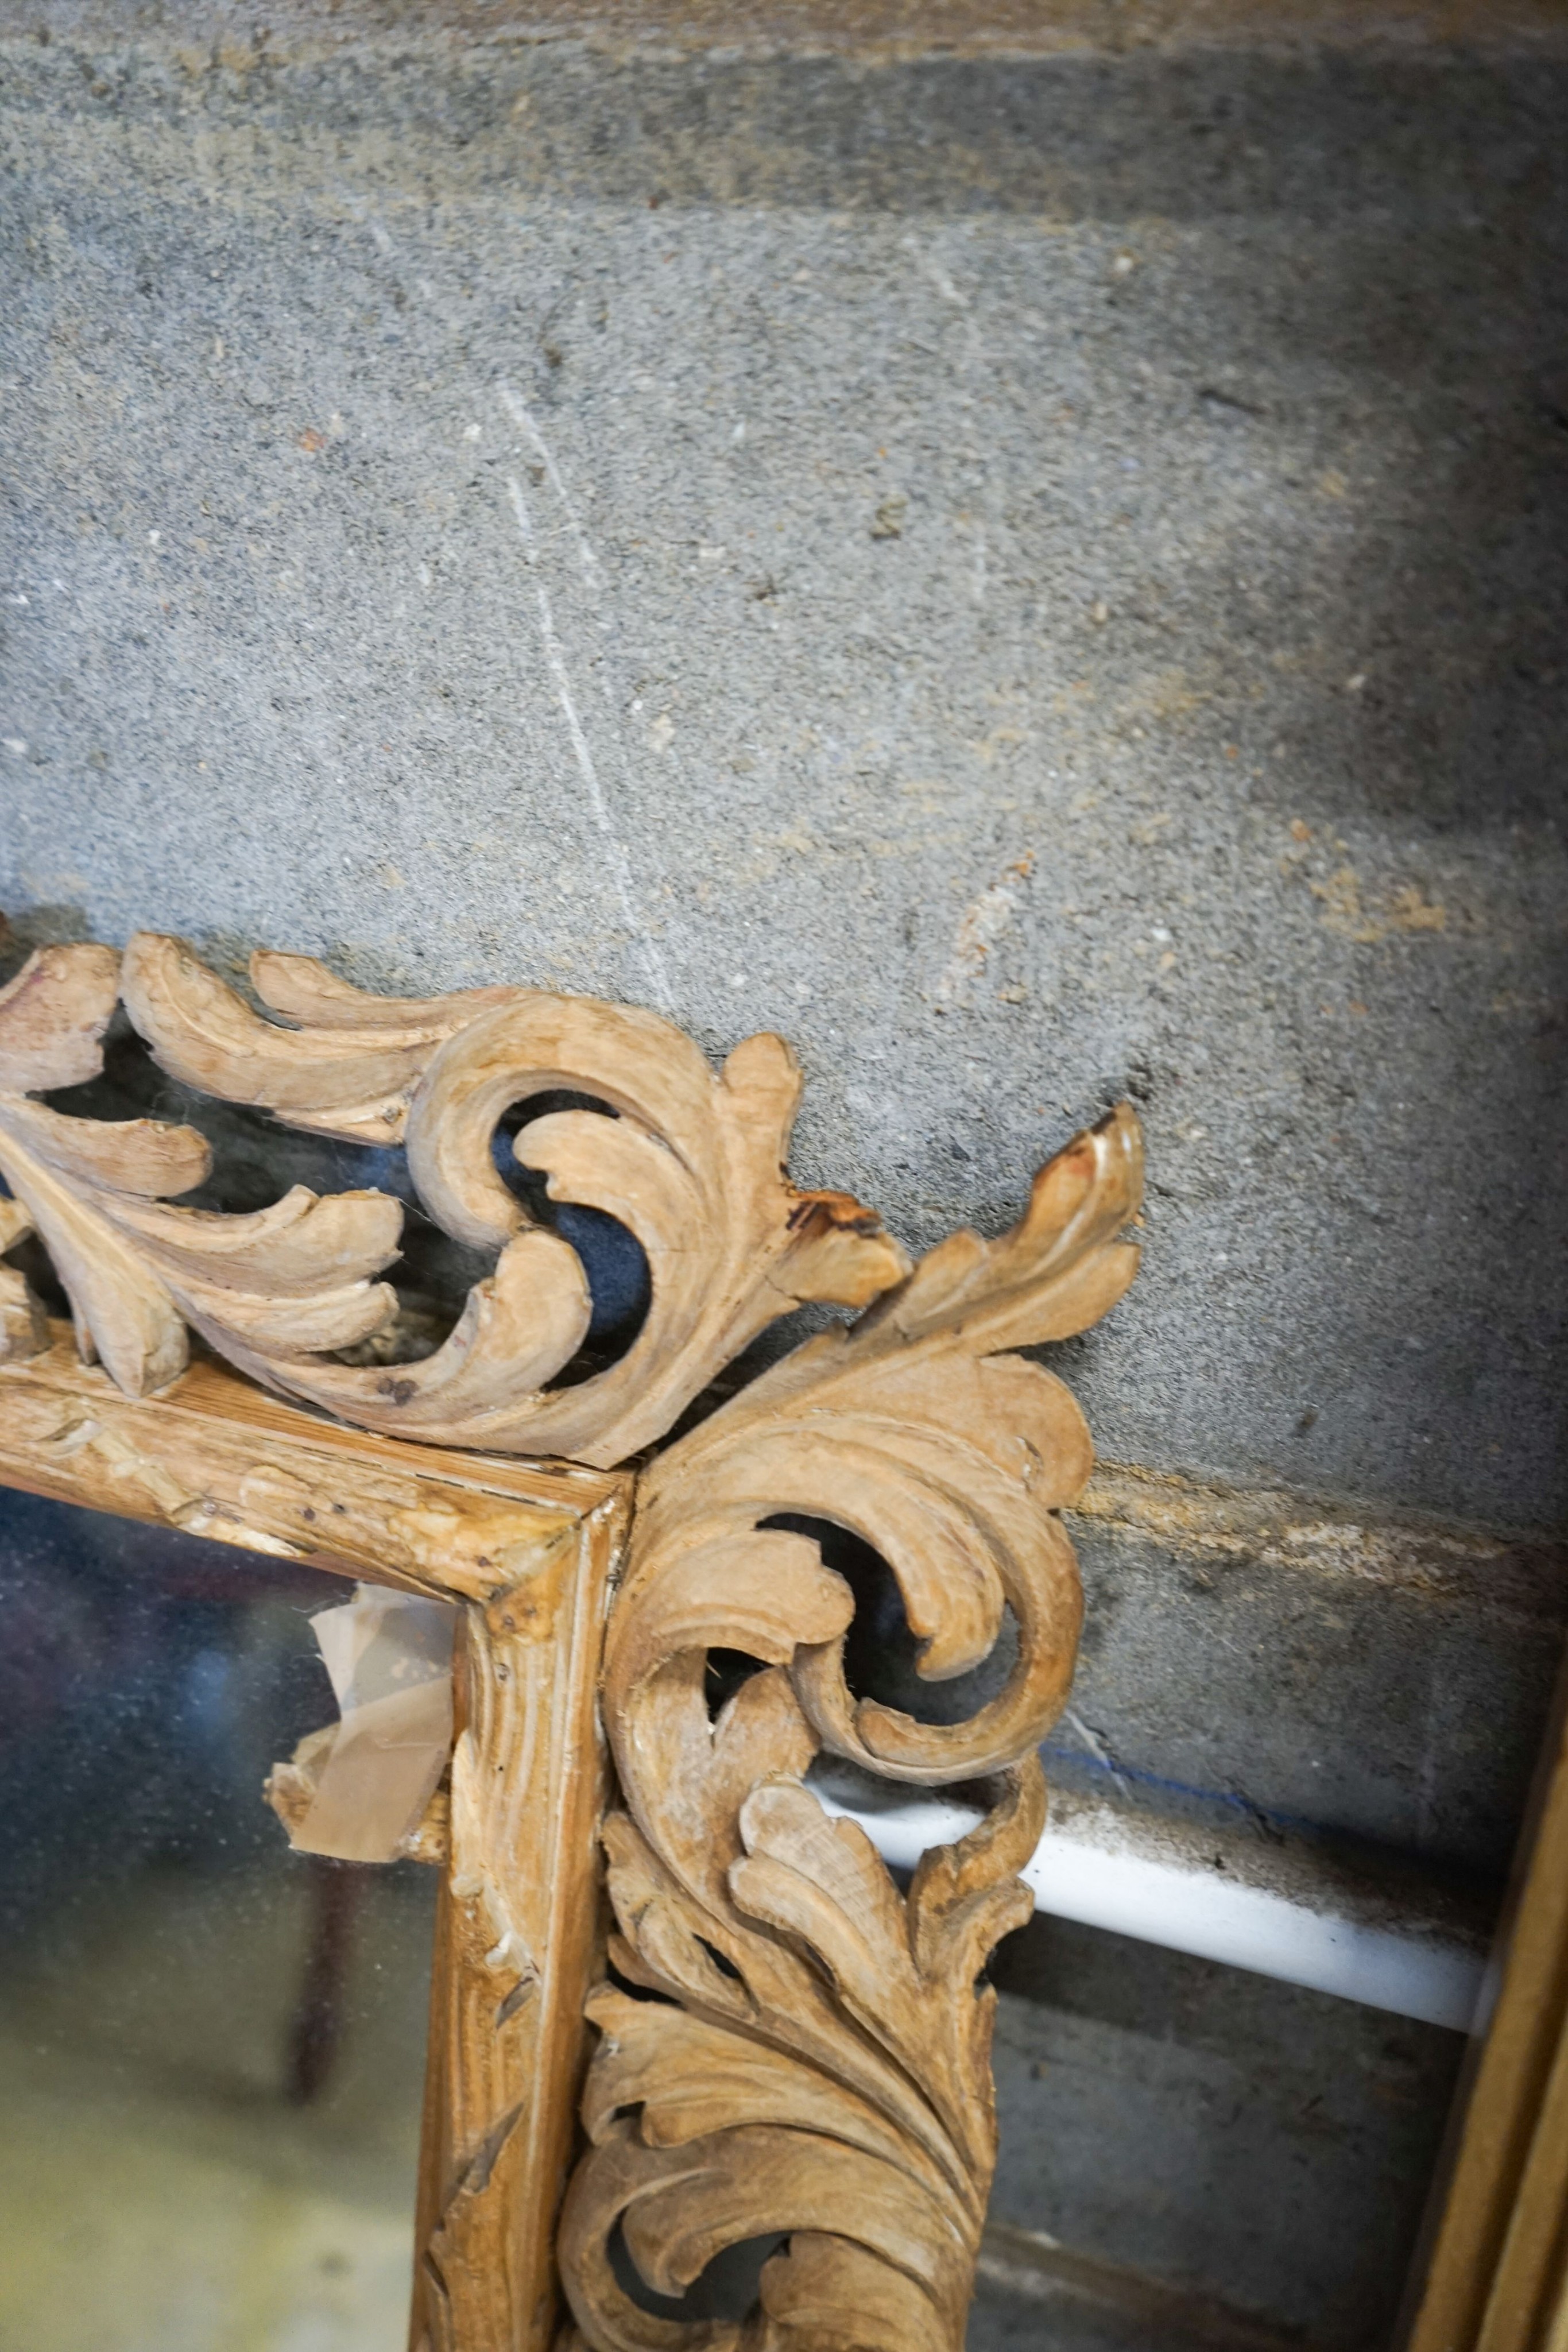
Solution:
M550 1392L545 1378L583 1336L585 1294L567 1291L576 1256L527 1223L489 1138L503 1110L555 1091L592 1094L614 1117L548 1112L522 1129L517 1157L548 1178L552 1200L599 1209L637 1237L651 1303L616 1364ZM863 1305L907 1265L858 1202L797 1192L780 1174L797 1101L799 1065L780 1037L748 1037L715 1077L658 1014L538 995L494 1007L433 1056L409 1105L409 1171L447 1232L501 1249L498 1294L527 1251L529 1282L510 1289L515 1310L548 1296L557 1315L534 1310L538 1369L529 1364L524 1378L515 1338L508 1355L480 1331L461 1336L461 1359L449 1343L451 1352L400 1367L390 1411L386 1376L322 1367L287 1385L369 1428L599 1468L623 1461L661 1437L778 1315L809 1298ZM548 1254L559 1291L538 1289ZM458 1369L465 1392L454 1395Z

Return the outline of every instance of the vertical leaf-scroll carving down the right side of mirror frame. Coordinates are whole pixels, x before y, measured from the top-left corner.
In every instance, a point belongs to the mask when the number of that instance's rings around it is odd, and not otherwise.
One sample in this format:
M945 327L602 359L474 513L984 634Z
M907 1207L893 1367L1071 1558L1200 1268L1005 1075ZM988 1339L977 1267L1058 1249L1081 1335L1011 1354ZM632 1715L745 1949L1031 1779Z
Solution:
M1041 1169L1009 1235L954 1235L644 1472L604 1675L625 1797L607 1825L611 1959L644 1997L595 1997L592 2150L562 2227L595 2352L961 2345L994 2164L994 1997L976 1980L1030 1912L1032 1750L1081 1606L1058 1512L1091 1468L1060 1381L1001 1350L1121 1296L1138 1197L1121 1108ZM933 1679L978 1665L1011 1611L1006 1686L961 1724L856 1703L849 1585L778 1517L882 1552ZM710 1649L757 1661L712 1722ZM992 1806L900 1893L809 1785L823 1748L896 1780L985 1776ZM686 2326L616 2279L616 2230L658 2293L736 2239L788 2246L750 2319Z

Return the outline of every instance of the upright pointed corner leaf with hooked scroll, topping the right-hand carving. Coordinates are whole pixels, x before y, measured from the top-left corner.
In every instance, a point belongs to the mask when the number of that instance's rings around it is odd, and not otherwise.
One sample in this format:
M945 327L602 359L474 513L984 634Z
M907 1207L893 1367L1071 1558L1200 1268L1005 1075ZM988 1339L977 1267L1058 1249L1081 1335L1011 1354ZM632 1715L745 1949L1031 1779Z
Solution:
M842 1635L802 1646L792 1677L806 1717L867 1771L924 1783L994 1771L1065 1696L1079 1585L1058 1512L1093 1449L1053 1374L992 1350L1067 1338L1114 1305L1138 1268L1121 1235L1140 1188L1138 1122L1121 1108L1041 1169L1011 1232L943 1242L860 1322L783 1357L644 1477L649 1592L698 1543L745 1543L762 1519L797 1512L882 1552L933 1682L976 1668L1011 1609L1011 1677L964 1724L856 1703Z

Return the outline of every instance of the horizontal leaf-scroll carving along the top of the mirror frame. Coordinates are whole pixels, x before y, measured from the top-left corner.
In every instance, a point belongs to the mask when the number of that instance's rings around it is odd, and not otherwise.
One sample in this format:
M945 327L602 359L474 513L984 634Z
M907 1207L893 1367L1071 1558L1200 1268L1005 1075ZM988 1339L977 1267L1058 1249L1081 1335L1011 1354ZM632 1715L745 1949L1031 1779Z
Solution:
M195 1329L254 1378L362 1428L609 1468L778 1315L811 1298L860 1308L907 1270L858 1202L788 1181L799 1065L780 1037L748 1037L715 1075L635 1007L536 988L371 997L277 953L252 957L252 981L275 1018L183 941L143 931L122 964L108 948L45 948L0 1000L0 1174L49 1247L82 1345L132 1395L183 1369ZM442 1345L339 1362L397 1310L371 1279L400 1247L388 1195L296 1188L254 1216L174 1207L209 1174L200 1134L68 1120L28 1098L96 1075L115 995L186 1087L353 1143L407 1141L430 1216L496 1251ZM534 1117L517 1155L555 1200L621 1221L651 1279L632 1345L576 1385L559 1374L588 1331L588 1277L491 1160L501 1115L559 1091L609 1117ZM31 1327L24 1301L9 1343L28 1345Z

